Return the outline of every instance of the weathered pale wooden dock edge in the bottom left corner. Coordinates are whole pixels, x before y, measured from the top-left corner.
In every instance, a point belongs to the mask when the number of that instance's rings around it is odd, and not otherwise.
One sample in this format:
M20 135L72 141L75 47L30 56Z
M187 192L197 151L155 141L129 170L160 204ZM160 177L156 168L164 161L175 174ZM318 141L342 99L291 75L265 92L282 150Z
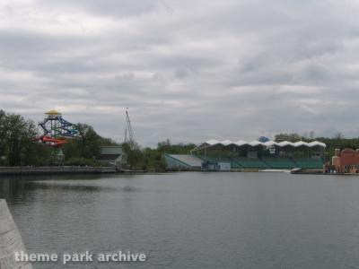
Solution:
M0 268L32 269L29 262L17 262L15 252L27 253L6 201L0 199Z

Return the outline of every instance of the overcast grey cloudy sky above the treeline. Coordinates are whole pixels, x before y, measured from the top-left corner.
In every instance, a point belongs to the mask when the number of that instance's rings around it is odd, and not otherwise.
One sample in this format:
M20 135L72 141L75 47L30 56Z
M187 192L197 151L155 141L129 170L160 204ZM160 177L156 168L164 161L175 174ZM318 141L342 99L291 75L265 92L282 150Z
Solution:
M153 145L359 135L356 0L0 0L0 108Z

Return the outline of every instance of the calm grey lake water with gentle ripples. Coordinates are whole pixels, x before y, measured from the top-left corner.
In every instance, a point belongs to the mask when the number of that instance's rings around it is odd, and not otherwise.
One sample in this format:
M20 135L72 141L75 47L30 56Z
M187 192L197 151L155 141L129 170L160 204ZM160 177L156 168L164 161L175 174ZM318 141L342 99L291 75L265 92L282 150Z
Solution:
M359 268L359 177L173 173L1 178L31 253L144 263L34 268Z

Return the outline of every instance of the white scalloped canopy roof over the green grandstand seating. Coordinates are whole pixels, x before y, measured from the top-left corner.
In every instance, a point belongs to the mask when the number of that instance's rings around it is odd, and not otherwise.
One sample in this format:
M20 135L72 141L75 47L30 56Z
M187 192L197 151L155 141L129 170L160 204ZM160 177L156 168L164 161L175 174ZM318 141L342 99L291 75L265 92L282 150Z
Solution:
M321 147L321 148L326 148L327 145L325 143L321 143L319 141L313 141L311 143L306 143L304 141L298 141L298 142L289 142L289 141L282 141L282 142L275 142L275 141L267 141L267 142L259 142L257 140L251 141L251 142L246 142L244 140L239 140L236 142L232 142L231 140L223 140L223 141L218 141L215 139L210 139L207 140L205 143L200 143L199 145L197 145L196 148L194 148L191 152L194 151L198 151L198 150L202 150L205 147L212 147L215 145L223 145L223 146L229 146L229 145L237 145L237 146L244 146L244 145L249 145L252 147L255 146L263 146L263 147L270 147L270 146L277 146L277 147L285 147L285 146L290 146L293 148L298 148L301 146L304 147L308 147L308 148L313 148L313 147Z

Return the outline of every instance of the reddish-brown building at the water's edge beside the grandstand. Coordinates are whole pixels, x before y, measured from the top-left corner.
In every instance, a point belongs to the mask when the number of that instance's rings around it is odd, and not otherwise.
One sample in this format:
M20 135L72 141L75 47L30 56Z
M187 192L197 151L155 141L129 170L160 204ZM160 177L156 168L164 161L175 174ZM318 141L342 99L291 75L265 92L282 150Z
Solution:
M358 173L359 172L359 150L336 149L332 158L332 167L337 173Z

